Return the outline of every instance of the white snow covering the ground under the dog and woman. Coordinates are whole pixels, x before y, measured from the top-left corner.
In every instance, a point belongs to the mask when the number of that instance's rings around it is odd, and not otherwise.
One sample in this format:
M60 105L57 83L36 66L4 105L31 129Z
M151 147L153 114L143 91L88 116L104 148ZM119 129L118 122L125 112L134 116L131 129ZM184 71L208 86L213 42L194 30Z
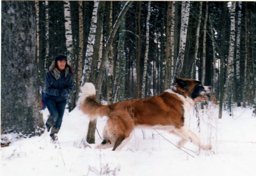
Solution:
M42 113L46 121L48 110ZM46 131L42 136L22 138L1 148L1 175L255 176L256 118L252 117L252 109L236 107L233 117L224 111L223 119L218 119L218 107L209 104L199 111L199 121L196 114L196 110L191 110L186 122L213 149L198 150L187 143L183 150L188 155L172 144L178 142L178 137L160 130L159 135L153 129L143 130L145 139L142 129L136 129L121 151L94 149L96 144L89 147L82 142L89 119L78 108L70 113L66 110L59 142L50 142ZM98 119L100 135L105 123L106 117ZM97 132L95 138L96 143L101 142Z

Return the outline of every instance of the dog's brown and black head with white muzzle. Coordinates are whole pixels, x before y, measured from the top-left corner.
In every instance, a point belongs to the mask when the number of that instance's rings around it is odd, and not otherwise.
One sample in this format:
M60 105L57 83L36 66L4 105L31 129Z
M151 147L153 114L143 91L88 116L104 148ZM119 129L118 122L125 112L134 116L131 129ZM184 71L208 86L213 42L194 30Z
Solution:
M177 91L183 95L192 98L194 101L205 101L207 95L211 92L211 86L203 86L201 81L193 79L176 78Z

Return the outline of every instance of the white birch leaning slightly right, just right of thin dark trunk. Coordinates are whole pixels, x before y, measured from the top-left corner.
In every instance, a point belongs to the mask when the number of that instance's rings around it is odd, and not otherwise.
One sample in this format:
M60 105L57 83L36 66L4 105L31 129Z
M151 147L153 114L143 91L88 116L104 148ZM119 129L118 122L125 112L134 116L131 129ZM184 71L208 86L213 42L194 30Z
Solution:
M229 99L228 111L231 112L231 102L233 94L233 77L234 77L234 49L235 49L235 4L236 2L231 2L230 5L230 36L229 36L229 53L228 53L228 63L226 66L226 81L224 88L224 109L227 104L227 99ZM228 96L228 97L227 97Z

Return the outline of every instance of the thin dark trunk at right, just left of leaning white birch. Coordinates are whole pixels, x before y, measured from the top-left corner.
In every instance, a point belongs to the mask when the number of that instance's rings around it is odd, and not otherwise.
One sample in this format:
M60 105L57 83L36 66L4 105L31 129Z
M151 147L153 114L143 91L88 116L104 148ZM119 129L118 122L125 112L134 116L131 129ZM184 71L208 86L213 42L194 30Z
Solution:
M226 33L226 2L223 2L222 18L222 52L220 57L220 97L219 97L219 119L222 118L223 95L224 95L224 57L225 57L225 33Z

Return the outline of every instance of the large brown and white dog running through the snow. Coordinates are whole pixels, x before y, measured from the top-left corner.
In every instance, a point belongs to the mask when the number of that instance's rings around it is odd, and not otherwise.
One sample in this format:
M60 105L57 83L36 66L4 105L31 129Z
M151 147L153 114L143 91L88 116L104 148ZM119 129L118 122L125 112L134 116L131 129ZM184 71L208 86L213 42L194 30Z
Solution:
M145 99L127 100L111 105L99 104L95 99L95 86L85 83L81 87L79 106L90 120L107 116L107 123L103 130L103 142L96 148L106 149L113 147L121 150L132 138L135 127L153 127L182 137L178 143L182 147L191 141L202 149L211 149L211 145L204 145L196 134L184 124L196 101L207 100L206 93L210 86L191 79L176 79L172 89L164 91L161 95Z

